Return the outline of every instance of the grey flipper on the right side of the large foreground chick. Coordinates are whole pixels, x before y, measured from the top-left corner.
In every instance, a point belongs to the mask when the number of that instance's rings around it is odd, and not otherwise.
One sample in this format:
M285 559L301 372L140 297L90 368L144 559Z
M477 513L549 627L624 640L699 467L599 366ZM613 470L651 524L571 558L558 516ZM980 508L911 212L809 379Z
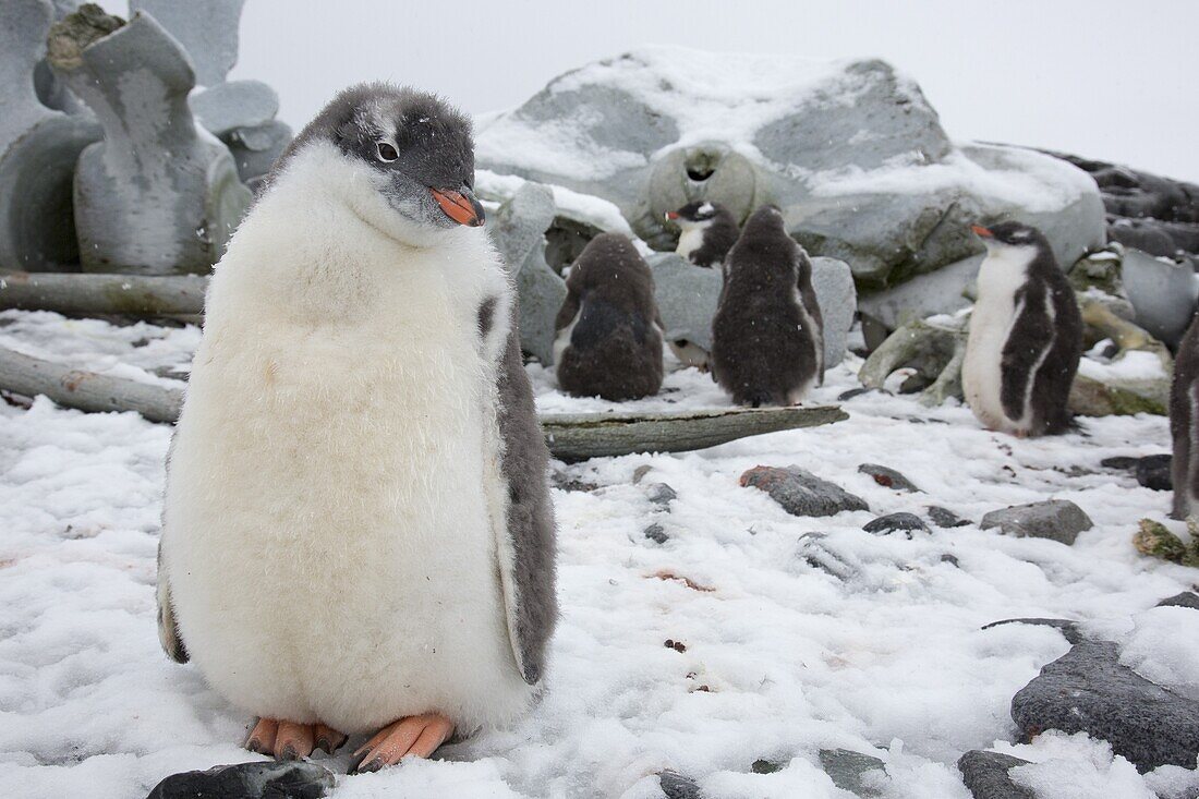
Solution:
M513 304L514 305L514 304ZM500 579L512 654L525 683L544 671L546 649L558 620L555 540L558 524L549 495L549 450L537 421L532 386L520 359L513 307L507 343L496 368L500 439L498 474L507 483L505 523L496 531Z

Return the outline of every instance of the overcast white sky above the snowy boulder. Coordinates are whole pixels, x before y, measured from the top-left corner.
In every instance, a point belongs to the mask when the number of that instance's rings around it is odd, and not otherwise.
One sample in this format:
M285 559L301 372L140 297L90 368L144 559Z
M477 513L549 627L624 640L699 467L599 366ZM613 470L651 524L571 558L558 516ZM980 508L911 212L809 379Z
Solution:
M1056 148L1199 182L1194 0L247 0L234 77L296 128L347 84L386 78L469 112L644 43L881 56L950 136Z

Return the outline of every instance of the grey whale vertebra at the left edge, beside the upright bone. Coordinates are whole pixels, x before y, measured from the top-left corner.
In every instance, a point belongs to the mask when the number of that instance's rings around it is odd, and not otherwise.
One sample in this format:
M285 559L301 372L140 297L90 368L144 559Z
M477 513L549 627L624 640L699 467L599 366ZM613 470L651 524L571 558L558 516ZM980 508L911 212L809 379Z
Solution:
M76 162L100 140L101 130L90 118L43 106L35 91L35 71L46 73L47 86L54 83L44 66L46 35L54 23L49 1L5 0L2 8L0 268L56 270L79 260L71 197Z

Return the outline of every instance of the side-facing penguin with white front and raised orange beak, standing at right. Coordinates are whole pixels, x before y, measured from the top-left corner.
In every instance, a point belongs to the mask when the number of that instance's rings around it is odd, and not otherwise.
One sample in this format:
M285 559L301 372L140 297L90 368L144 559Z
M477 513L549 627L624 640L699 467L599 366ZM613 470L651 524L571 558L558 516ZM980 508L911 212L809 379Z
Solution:
M984 427L1018 437L1061 433L1083 354L1074 292L1040 230L974 226L987 245L970 314L962 385Z

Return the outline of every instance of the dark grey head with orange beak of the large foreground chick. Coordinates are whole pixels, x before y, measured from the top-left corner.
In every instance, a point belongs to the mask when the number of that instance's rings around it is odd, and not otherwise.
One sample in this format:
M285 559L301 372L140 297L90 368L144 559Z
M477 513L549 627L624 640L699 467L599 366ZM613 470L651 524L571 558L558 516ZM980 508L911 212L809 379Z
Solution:
M435 95L386 83L351 86L300 132L273 174L314 142L332 143L363 170L408 227L483 224L470 119Z

